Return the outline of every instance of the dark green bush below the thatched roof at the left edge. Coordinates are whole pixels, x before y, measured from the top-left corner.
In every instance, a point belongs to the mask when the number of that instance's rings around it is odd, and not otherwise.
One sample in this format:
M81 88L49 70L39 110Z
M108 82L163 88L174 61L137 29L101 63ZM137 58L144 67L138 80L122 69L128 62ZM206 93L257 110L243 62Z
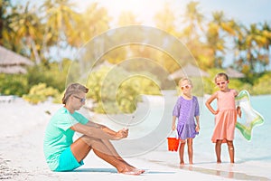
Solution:
M28 90L26 76L0 74L0 94L22 96Z

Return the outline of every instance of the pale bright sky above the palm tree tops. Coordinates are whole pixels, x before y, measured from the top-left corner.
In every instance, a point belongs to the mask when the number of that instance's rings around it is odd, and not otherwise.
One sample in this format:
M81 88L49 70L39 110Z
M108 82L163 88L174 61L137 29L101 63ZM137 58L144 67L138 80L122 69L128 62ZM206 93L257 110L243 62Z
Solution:
M154 14L169 4L175 14L182 14L184 7L191 0L73 0L79 8L98 2L107 8L108 14L114 18L122 11L131 11L144 22L153 25ZM241 24L252 24L267 21L271 23L270 0L199 0L201 13L206 17L214 11L223 11L228 18L234 18Z

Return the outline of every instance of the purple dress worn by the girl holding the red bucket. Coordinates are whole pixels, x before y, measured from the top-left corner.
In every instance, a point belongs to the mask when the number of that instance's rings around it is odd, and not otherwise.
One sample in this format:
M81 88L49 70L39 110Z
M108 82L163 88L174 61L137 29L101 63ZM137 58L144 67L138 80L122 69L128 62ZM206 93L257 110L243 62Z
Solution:
M192 100L185 100L182 96L177 100L173 116L178 118L177 131L181 139L195 138L199 133L196 132L194 117L200 115L199 102L197 97Z

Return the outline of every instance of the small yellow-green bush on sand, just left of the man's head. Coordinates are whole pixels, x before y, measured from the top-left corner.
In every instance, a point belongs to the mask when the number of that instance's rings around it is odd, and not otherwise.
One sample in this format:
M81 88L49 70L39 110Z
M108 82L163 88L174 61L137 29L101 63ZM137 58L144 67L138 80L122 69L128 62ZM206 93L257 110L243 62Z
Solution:
M46 83L39 83L34 85L28 94L23 95L23 100L32 104L38 104L47 100L49 97L57 98L59 94L59 90L47 87Z

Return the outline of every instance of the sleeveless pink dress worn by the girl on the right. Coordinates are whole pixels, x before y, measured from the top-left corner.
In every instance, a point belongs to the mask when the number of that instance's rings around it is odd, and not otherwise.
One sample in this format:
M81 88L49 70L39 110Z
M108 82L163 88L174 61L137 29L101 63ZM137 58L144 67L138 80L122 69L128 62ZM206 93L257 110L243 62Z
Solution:
M237 122L237 110L235 106L236 90L229 90L228 92L217 91L217 102L219 113L215 116L215 128L211 141L216 143L218 139L222 143L226 140L233 140L234 130Z

